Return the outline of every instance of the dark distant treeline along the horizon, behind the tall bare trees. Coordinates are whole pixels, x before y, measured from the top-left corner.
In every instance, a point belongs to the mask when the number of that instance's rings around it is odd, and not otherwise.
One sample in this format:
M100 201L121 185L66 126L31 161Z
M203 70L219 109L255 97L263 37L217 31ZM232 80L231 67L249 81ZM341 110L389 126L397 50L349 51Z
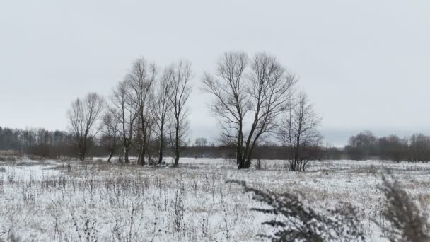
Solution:
M94 157L108 156L103 146L103 136L91 140L89 155ZM276 144L264 144L255 149L255 159L286 159L287 147ZM383 159L390 161L430 161L430 137L414 134L408 138L396 135L375 137L371 132L361 132L349 138L344 149L335 147L313 147L313 154L318 159ZM18 151L21 154L41 156L50 159L76 157L74 139L68 132L47 129L10 129L0 127L0 150ZM120 148L117 151L120 155ZM136 156L136 150L131 154ZM173 151L166 150L167 156ZM208 145L204 138L198 138L194 144L187 144L182 149L183 157L235 159L236 149L231 146Z

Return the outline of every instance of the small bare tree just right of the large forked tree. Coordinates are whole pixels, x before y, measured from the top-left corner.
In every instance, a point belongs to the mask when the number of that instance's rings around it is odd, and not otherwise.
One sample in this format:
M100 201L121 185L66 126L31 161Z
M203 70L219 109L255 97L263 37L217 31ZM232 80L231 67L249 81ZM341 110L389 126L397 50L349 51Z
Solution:
M279 126L279 141L286 147L291 171L305 171L309 161L318 156L322 140L318 126L321 119L309 104L305 93L300 93L297 103L291 103Z

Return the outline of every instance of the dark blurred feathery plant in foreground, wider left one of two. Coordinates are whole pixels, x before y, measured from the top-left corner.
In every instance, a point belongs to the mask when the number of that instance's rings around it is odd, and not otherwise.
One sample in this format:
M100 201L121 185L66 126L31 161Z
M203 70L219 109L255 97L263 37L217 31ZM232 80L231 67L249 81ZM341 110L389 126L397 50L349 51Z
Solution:
M364 241L359 214L351 204L344 203L342 209L329 210L326 216L306 207L296 195L288 192L263 192L237 180L229 180L227 183L242 185L244 192L254 194L252 199L270 207L252 210L283 217L281 220L265 221L263 224L277 230L271 235L260 235L262 237L272 241Z

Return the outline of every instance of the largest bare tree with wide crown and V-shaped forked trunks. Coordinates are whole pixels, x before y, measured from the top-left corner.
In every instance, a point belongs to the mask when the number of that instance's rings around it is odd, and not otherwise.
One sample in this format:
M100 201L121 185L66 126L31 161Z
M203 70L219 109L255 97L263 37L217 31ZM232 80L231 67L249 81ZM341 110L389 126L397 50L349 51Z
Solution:
M223 135L237 141L238 168L249 168L257 139L277 127L295 76L265 52L256 54L250 64L247 54L226 52L219 59L216 76L204 74L203 83L204 91L215 97L210 107L219 117ZM250 121L249 127L245 121Z

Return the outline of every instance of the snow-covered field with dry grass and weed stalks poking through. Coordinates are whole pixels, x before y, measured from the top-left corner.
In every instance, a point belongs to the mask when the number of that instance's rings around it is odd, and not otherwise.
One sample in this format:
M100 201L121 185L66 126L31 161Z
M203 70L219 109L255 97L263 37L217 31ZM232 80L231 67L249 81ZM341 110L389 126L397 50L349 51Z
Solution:
M70 166L68 166L70 163ZM324 212L350 202L364 217L367 241L386 241L382 173L400 180L417 204L430 205L430 164L319 161L306 173L284 161L238 171L224 159L181 159L180 168L93 161L0 161L0 241L262 241L262 205L226 180L276 192L301 192Z

